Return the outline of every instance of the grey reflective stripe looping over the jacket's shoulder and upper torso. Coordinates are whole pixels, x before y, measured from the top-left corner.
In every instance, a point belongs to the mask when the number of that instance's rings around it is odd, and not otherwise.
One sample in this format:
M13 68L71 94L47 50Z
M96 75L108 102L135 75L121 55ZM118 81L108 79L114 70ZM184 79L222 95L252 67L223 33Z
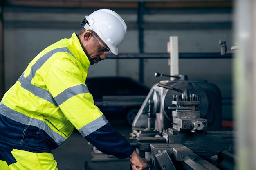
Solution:
M42 65L55 53L57 52L68 52L70 53L73 57L74 55L70 52L70 50L66 47L63 48L57 48L54 49L52 51L47 52L46 54L44 54L42 57L40 57L40 59L38 59L36 61L36 63L34 65L32 65L31 70L30 70L30 74L27 77L24 77L24 73L20 76L20 78L18 79L18 81L20 81L21 83L21 87L23 87L24 89L28 90L29 92L31 92L32 94L34 94L35 96L38 96L40 98L43 98L49 102L51 102L53 105L58 106L58 104L56 103L56 101L54 100L54 98L52 97L52 94L50 94L49 91L42 89L40 87L37 87L36 85L31 84L31 80L34 78L34 76L36 75L36 71L42 67ZM76 58L76 57L74 57Z

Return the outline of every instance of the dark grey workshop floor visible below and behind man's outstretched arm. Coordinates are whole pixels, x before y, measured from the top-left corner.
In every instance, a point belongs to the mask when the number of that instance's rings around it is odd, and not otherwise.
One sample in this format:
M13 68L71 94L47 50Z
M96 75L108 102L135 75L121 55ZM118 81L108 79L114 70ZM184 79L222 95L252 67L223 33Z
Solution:
M107 118L110 124L128 139L131 127L122 118ZM130 170L129 159L119 160L105 154L93 153L92 145L79 134L73 133L66 142L53 150L59 170ZM94 154L95 155L95 154Z

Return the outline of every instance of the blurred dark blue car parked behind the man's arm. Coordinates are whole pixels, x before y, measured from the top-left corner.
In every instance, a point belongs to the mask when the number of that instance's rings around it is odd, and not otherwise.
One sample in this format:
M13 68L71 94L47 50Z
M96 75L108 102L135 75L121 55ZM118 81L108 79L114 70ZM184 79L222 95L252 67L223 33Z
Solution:
M129 126L150 91L149 87L128 77L92 77L87 78L85 84L107 119L110 116L124 118Z

